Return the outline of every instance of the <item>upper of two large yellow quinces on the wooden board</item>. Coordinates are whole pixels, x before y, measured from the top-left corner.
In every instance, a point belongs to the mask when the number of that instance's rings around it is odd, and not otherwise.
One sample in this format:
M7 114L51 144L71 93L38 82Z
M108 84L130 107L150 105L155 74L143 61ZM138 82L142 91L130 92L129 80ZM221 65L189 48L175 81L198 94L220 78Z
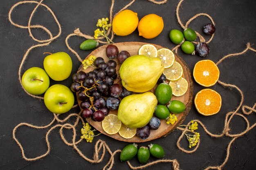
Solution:
M124 61L119 73L124 88L143 93L155 86L163 71L164 66L159 58L133 55Z

